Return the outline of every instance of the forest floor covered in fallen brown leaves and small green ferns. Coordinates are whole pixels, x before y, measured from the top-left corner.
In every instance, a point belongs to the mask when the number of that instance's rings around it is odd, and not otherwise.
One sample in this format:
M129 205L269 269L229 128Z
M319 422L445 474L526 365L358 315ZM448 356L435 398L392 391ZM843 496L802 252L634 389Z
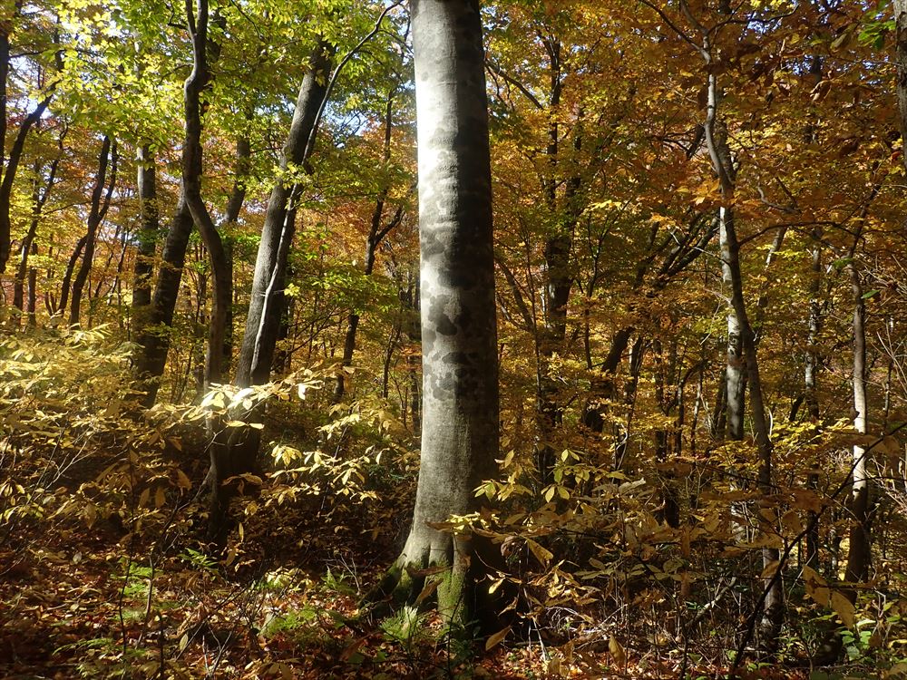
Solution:
M295 539L252 535L253 523L223 560L166 537L148 544L109 520L20 523L0 544L0 677L672 678L684 663L656 650L616 658L607 639L530 636L485 652L445 635L433 613L371 617L361 596L395 546L354 540L358 529L316 512L283 519ZM722 670L686 661L691 678ZM765 666L742 676L806 675Z

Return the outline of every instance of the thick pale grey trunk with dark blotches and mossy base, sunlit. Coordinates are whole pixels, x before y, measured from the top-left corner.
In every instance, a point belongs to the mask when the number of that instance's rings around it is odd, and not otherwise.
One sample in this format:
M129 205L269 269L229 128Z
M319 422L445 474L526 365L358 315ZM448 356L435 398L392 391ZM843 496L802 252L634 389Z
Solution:
M419 593L411 568L444 567L446 617L496 616L478 585L483 541L434 529L476 510L495 473L498 372L492 196L482 22L477 0L412 0L419 139L423 344L422 466L413 526L390 573ZM415 572L418 573L418 572ZM385 583L385 588L389 584ZM490 623L490 621L486 621Z

